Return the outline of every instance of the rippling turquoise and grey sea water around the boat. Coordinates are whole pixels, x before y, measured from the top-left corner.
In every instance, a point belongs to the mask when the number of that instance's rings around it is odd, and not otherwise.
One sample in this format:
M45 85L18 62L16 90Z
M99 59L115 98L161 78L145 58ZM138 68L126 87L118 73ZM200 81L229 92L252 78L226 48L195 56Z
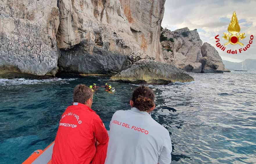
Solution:
M191 74L195 82L149 85L156 94L152 117L172 139L172 163L255 163L256 72ZM0 79L0 163L22 163L54 141L58 122L73 102L77 84L109 77ZM100 88L92 108L107 129L116 110L130 109L137 85L111 82Z

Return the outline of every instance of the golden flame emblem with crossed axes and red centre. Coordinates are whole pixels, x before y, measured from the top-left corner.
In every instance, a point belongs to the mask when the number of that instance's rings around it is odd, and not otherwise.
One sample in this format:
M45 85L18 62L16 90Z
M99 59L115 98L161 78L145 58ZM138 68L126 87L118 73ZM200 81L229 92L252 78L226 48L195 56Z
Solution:
M241 46L243 46L244 44L239 42L239 38L240 40L243 40L246 36L245 33L240 33L239 35L237 35L237 33L240 32L240 26L238 24L238 20L237 20L237 14L236 12L233 12L233 16L231 19L230 24L228 25L228 32L231 33L232 35L230 36L227 33L223 33L224 36L222 36L225 40L228 40L227 43L225 43L224 45L228 45L228 44L232 44L232 45L236 45L239 44Z

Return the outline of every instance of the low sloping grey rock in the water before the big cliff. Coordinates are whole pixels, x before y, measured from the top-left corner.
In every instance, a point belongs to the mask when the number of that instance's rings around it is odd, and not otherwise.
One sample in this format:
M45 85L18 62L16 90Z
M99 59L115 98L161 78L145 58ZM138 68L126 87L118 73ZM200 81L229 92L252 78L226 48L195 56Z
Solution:
M194 78L172 64L139 60L132 67L112 76L110 80L134 84L169 84L191 82Z

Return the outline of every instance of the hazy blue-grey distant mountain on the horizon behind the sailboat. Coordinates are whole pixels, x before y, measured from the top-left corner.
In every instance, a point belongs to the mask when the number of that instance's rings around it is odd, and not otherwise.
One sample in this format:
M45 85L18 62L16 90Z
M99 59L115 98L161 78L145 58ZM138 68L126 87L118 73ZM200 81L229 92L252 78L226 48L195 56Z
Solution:
M242 69L242 62L230 62L227 60L223 60L225 68L227 69ZM256 70L256 60L255 59L246 59L244 60L247 70ZM245 69L245 68L244 68Z

